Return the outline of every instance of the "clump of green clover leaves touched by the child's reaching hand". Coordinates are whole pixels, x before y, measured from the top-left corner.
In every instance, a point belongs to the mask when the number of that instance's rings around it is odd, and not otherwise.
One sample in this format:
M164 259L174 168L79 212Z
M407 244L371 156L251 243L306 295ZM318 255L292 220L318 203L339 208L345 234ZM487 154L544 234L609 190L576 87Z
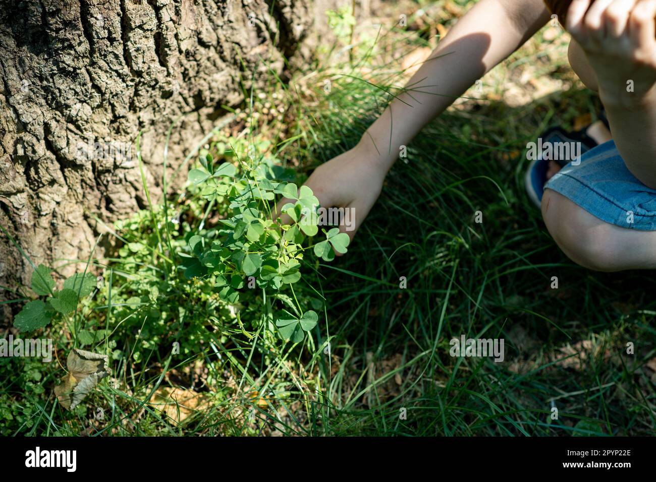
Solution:
M293 182L277 178L289 173L272 165L268 157L240 157L237 152L249 152L249 146L241 148L234 148L239 172L232 163L220 164L213 170L213 159L207 152L201 155L201 168L189 172L190 184L198 186L206 199L216 199L212 197L215 194L226 199L221 201L222 216L216 228L188 238L188 249L178 253L180 268L187 279L213 279L218 297L224 302L237 303L246 285L248 289L269 290L266 296L271 296L273 290L274 298L291 300L283 291L301 278L304 252L310 249L303 246L304 241L319 232L319 199L308 186L298 188ZM223 186L222 190L217 190L218 185ZM207 191L211 195L206 195L207 186L213 190ZM274 207L270 202L276 201L276 195L293 201L281 208L293 220L291 226L272 216ZM325 241L314 246L319 258L329 261L335 258L335 252L346 252L346 233L338 228L323 233ZM309 310L299 317L300 306L292 308L295 314L277 319L276 327L281 338L297 343L316 326L318 315Z

